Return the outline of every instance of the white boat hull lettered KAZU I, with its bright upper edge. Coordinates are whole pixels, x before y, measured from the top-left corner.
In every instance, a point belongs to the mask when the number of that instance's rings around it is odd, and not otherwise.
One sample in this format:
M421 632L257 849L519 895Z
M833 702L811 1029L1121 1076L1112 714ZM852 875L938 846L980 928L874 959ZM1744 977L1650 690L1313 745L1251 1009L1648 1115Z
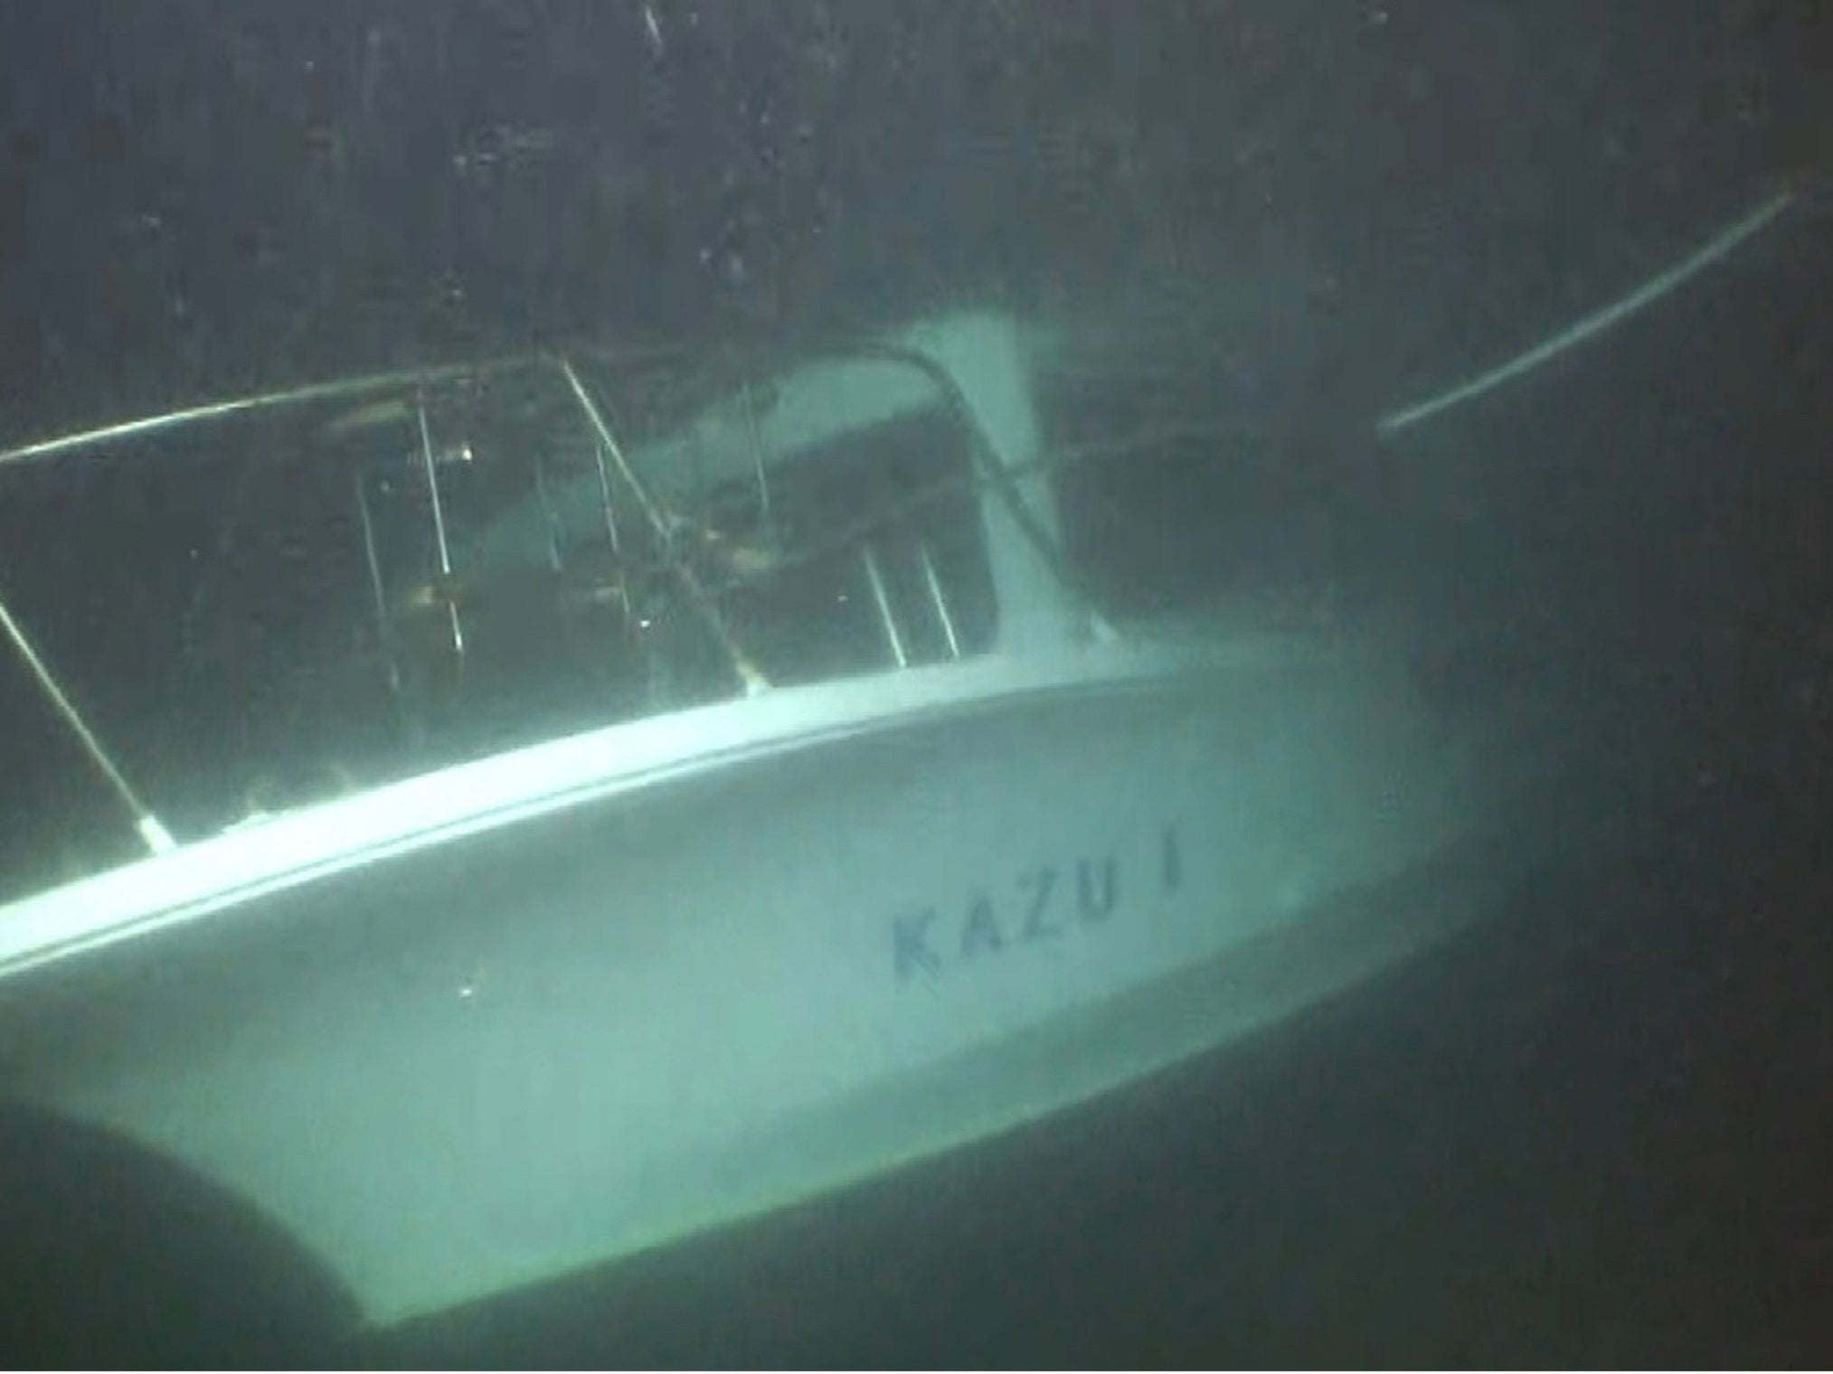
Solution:
M1481 914L1492 874L1455 856L1503 790L1487 747L1378 658L1283 639L620 725L0 912L4 1086L255 1204L394 1323L984 1136L1421 951Z

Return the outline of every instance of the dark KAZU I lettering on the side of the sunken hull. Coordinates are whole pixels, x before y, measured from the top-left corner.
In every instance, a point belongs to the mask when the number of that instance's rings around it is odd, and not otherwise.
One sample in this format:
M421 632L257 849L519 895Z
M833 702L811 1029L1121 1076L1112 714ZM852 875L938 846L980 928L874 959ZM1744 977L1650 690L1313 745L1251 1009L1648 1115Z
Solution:
M1149 854L1094 854L1019 868L984 883L964 901L922 907L891 920L891 969L896 982L1003 956L1078 931L1124 920L1169 898L1184 885L1177 823L1166 824Z

